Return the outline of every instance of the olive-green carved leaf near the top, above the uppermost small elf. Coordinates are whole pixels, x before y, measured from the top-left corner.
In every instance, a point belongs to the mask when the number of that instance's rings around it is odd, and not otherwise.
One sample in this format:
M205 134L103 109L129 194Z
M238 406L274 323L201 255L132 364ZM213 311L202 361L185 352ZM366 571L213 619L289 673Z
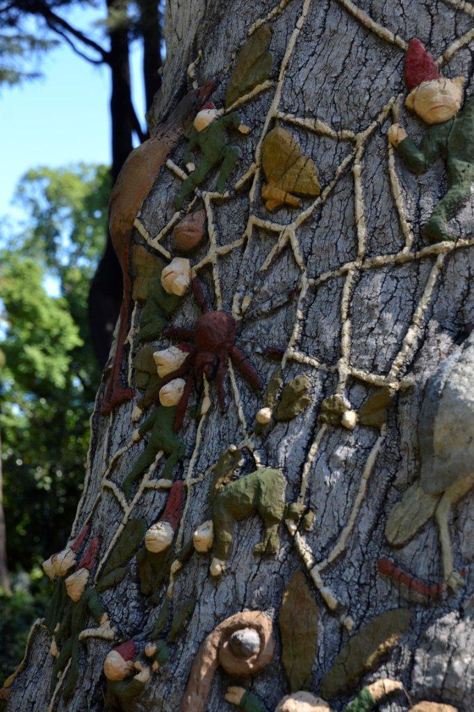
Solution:
M271 38L270 27L263 24L241 48L226 91L226 109L269 78L273 63L268 51Z

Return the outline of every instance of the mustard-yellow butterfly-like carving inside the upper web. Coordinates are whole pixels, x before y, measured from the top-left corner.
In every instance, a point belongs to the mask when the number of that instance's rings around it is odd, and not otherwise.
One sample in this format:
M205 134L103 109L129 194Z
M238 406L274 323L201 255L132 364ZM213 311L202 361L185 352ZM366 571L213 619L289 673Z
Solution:
M275 210L281 205L300 207L298 195L315 197L320 194L315 164L301 155L300 146L290 131L277 127L265 136L262 165L267 180L262 197L267 210Z

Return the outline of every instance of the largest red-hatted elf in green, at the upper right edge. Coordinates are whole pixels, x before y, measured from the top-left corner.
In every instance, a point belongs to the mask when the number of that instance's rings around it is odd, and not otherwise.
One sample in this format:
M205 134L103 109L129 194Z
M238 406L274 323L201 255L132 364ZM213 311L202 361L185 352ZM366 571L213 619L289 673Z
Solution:
M416 38L406 52L404 75L410 90L406 107L428 124L428 130L418 147L402 126L393 124L389 141L415 173L425 172L439 155L446 159L448 192L433 209L423 236L432 242L453 240L448 220L468 200L474 185L474 98L460 111L465 78L442 77Z

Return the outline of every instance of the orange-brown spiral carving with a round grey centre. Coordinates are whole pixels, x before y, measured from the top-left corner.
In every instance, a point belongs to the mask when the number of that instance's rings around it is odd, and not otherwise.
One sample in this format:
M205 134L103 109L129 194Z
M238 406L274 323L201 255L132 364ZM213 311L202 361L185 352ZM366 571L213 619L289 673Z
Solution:
M255 675L273 659L271 619L262 611L243 611L219 623L201 644L191 668L180 712L205 712L219 665L228 675Z

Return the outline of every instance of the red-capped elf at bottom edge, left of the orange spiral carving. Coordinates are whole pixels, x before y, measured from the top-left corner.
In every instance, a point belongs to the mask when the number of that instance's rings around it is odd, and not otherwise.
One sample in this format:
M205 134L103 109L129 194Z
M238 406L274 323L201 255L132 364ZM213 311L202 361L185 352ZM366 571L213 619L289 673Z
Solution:
M169 649L161 641L147 644L144 653L152 661L153 671L169 658ZM135 675L130 677L133 672ZM129 640L111 650L105 658L104 673L107 678L106 712L135 712L137 699L151 676L149 666L137 658L137 645Z

